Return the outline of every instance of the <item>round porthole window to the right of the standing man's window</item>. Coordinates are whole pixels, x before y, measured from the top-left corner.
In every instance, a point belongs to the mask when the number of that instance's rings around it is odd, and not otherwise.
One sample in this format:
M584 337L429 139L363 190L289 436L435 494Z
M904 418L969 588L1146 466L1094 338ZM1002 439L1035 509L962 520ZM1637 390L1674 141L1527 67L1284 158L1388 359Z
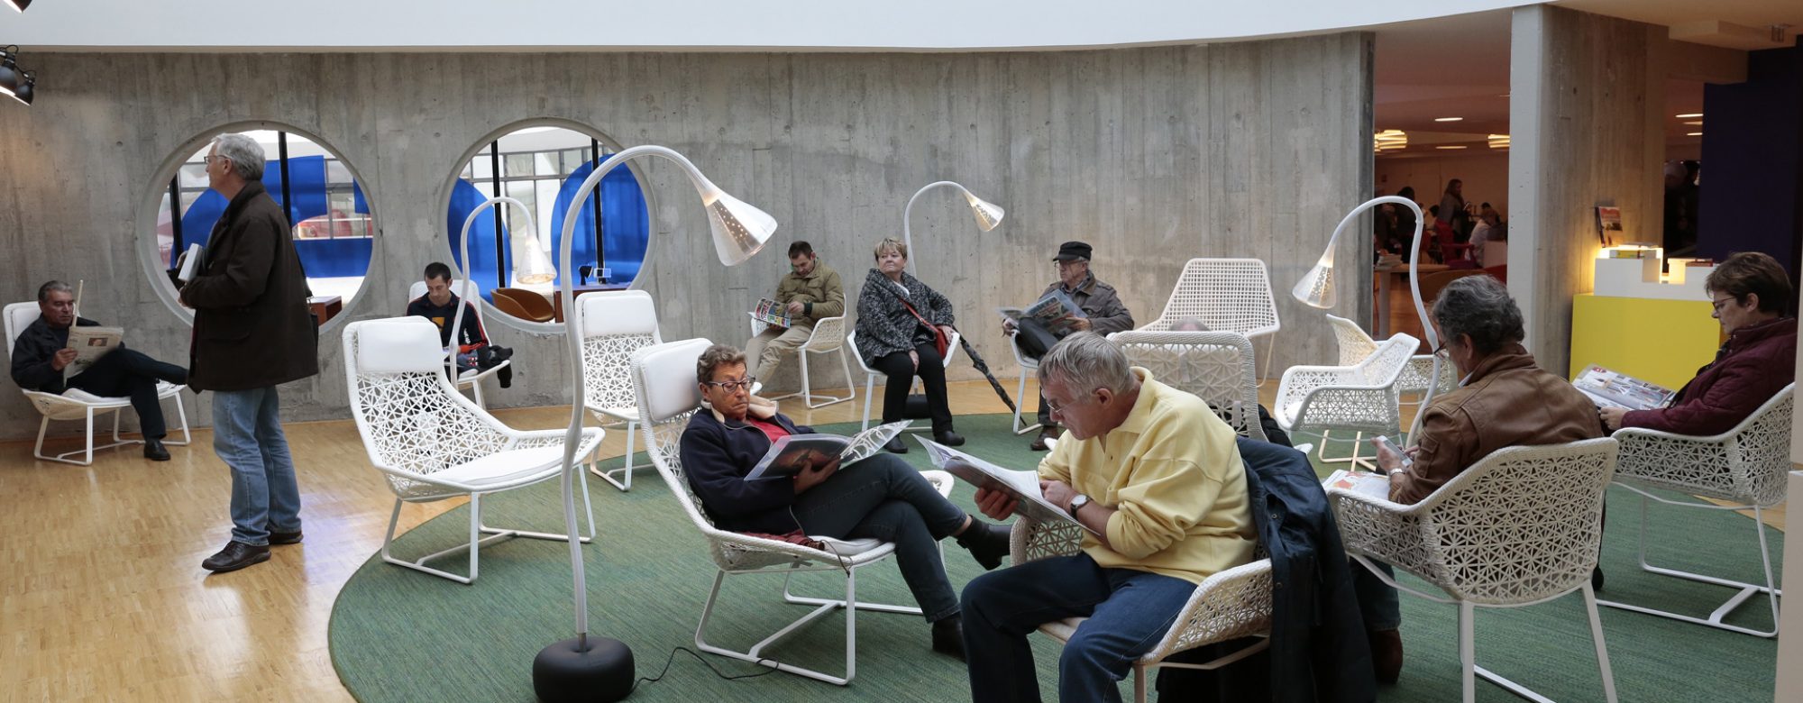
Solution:
M554 323L561 315L552 292L563 276L575 278L577 294L626 288L638 278L651 240L651 215L631 168L609 171L573 209L570 267L575 270L559 270L555 261L575 191L618 150L611 139L581 124L530 121L498 130L463 157L445 213L451 260L469 270L492 310ZM469 222L471 213L498 195L519 200L525 213L496 204ZM467 263L462 261L465 222Z

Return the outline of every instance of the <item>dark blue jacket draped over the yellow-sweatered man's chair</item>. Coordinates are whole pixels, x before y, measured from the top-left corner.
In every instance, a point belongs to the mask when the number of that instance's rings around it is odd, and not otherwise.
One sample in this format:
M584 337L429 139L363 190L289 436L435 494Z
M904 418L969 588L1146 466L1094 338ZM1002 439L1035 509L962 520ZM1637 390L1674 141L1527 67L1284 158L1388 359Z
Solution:
M1240 438L1239 451L1258 546L1271 557L1271 649L1219 672L1161 671L1159 699L1374 701L1365 618L1322 479L1295 449ZM1172 662L1201 663L1239 645L1192 649ZM1248 680L1258 665L1269 678Z

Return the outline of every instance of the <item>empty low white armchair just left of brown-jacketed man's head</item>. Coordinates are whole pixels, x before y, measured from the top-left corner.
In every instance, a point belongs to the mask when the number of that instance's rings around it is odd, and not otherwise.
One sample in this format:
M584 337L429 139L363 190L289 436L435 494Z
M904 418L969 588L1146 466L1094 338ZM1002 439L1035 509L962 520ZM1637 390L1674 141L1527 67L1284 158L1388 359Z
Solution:
M1271 415L1291 434L1322 433L1322 461L1359 461L1359 442L1349 458L1327 458L1327 431L1370 433L1396 438L1403 433L1396 380L1421 342L1397 333L1354 366L1291 366L1277 386Z

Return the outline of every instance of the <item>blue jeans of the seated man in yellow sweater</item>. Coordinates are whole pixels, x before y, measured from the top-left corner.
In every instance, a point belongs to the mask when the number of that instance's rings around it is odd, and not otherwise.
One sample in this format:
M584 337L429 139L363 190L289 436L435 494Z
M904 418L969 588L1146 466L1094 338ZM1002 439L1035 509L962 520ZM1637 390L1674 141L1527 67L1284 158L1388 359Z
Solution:
M965 586L965 656L975 703L1039 701L1033 649L1040 624L1087 616L1058 654L1058 699L1120 701L1116 683L1170 631L1195 584L1105 570L1087 553L990 571Z

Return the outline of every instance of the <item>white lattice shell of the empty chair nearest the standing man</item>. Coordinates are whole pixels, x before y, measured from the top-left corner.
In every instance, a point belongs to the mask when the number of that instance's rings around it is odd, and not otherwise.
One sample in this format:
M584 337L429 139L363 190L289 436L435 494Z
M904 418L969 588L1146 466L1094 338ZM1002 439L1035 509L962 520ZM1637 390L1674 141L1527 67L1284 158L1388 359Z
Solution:
M445 380L438 326L426 317L346 326L344 377L357 431L379 467L433 474L507 449L501 427ZM445 494L402 476L382 478L402 499Z

